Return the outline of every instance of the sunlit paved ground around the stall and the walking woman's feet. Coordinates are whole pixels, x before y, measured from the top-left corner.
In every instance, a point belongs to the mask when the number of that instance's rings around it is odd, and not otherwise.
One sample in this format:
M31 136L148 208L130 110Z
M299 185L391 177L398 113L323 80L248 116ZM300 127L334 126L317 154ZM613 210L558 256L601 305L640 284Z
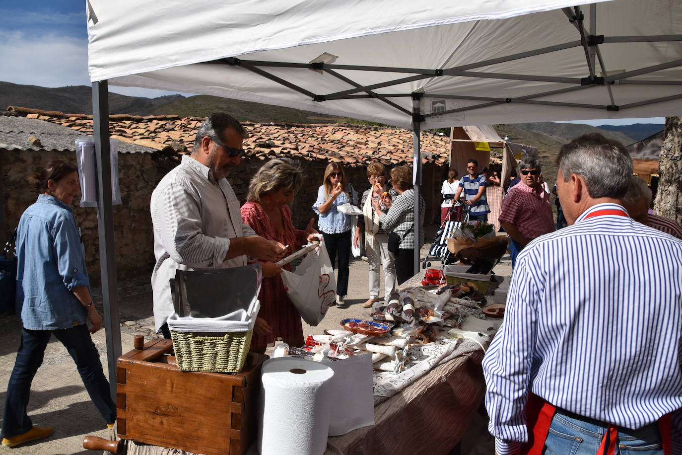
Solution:
M434 226L427 226L427 239L432 239ZM428 252L428 245L422 249L422 258ZM434 261L435 263L435 261ZM509 258L494 269L498 275L511 274ZM361 260L351 262L351 276L349 293L346 302L349 308L330 308L325 319L318 327L303 325L304 334L321 333L324 329L339 328L339 321L346 317L365 317L367 310L361 307L368 298L368 264ZM383 278L382 288L383 289ZM100 289L93 289L95 302ZM121 314L121 345L125 353L132 349L133 337L143 334L147 338L153 337L153 315L151 304L151 286L149 276L134 280L126 280L119 287L119 310ZM101 312L101 308L100 308ZM7 383L14 366L16 349L20 340L20 321L17 317L0 318L0 403L5 402ZM106 341L104 329L93 336L100 351L102 364L106 365ZM106 366L104 373L107 373ZM33 424L53 426L55 433L42 441L9 449L1 447L0 453L16 455L28 454L92 454L84 450L82 443L86 435L106 437L104 421L92 405L85 387L80 381L76 367L63 348L54 337L45 353L43 366L33 380L31 387L31 402L29 415Z

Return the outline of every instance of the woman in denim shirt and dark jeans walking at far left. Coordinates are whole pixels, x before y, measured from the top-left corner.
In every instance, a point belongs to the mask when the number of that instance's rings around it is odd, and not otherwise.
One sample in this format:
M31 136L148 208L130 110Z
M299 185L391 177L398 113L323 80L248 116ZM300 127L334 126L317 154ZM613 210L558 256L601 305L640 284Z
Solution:
M23 328L3 413L2 443L8 447L53 432L34 427L26 413L31 382L52 334L73 357L106 424L113 426L116 420L109 383L90 337L100 329L102 317L90 297L85 252L70 207L80 191L76 166L52 160L34 177L41 194L21 216L16 233L16 299Z

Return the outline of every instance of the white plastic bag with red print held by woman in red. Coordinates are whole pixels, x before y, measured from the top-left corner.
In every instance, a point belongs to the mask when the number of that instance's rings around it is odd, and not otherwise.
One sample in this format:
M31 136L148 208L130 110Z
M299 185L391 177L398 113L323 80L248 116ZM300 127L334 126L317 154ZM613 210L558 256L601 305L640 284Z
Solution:
M325 241L303 257L295 271L282 270L282 282L291 302L308 325L315 327L336 303L336 277Z

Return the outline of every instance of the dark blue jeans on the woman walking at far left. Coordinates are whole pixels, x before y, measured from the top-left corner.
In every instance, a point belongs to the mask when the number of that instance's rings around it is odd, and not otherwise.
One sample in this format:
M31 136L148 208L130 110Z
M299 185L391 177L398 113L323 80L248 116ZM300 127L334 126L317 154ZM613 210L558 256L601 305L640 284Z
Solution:
M1 437L22 435L33 427L33 422L26 413L31 382L42 364L45 348L52 334L61 341L76 362L85 390L104 421L113 424L116 420L116 406L109 395L109 383L102 372L100 354L90 338L87 325L58 330L22 328L21 344L7 386Z

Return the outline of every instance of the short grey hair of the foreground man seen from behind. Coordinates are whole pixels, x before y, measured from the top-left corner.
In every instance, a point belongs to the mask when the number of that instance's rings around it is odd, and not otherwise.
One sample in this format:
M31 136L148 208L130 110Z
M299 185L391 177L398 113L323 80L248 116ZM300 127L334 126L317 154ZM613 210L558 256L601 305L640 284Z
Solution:
M580 175L593 199L621 199L631 183L632 159L627 149L598 133L583 134L561 147L557 167L564 181L572 174Z

